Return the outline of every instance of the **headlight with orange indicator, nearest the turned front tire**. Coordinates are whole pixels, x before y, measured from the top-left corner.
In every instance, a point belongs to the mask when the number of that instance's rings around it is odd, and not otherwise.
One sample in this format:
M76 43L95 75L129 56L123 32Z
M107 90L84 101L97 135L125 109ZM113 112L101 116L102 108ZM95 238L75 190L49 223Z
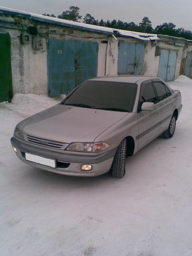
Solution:
M91 152L97 153L106 148L109 145L106 142L80 142L80 143L71 143L66 150L68 151L78 151L78 152Z

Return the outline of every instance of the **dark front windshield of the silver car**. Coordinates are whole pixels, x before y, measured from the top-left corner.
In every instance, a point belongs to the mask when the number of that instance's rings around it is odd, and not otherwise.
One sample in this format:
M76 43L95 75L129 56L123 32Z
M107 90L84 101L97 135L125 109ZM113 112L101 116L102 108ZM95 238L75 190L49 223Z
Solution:
M137 84L85 81L61 104L82 108L132 112Z

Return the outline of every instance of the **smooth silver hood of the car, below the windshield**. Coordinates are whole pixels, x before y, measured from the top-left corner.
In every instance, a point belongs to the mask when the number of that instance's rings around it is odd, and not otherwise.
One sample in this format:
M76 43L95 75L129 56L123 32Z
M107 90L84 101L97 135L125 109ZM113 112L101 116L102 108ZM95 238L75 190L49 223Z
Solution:
M53 141L92 142L127 113L56 105L18 124L28 135Z

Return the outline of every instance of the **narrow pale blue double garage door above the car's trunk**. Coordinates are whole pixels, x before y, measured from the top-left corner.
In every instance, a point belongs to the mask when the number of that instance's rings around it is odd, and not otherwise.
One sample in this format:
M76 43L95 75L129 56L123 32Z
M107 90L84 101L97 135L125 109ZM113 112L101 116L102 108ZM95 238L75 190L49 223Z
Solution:
M158 77L164 81L173 81L177 61L177 51L161 50L159 59Z

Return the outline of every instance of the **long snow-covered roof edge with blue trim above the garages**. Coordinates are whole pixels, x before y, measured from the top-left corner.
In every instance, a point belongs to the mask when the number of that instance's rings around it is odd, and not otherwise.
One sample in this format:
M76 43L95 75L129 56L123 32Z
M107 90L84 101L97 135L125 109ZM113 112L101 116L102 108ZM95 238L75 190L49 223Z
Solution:
M111 35L115 35L115 36L137 38L137 39L140 39L143 41L159 40L158 36L155 34L146 34L146 33L140 33L140 32L129 31L129 30L114 29L114 28L90 25L90 24L86 24L86 23L82 23L82 22L63 20L63 19L53 18L50 16L45 16L45 15L36 14L36 13L23 12L23 11L19 11L19 10L15 10L15 9L10 9L7 7L0 6L0 13L27 16L33 20L38 20L38 21L42 21L42 22L49 22L49 23L57 24L57 25L61 25L61 26L73 27L73 28L78 28L78 29L83 29L83 30L90 30L90 31L94 31L97 33L105 33L105 34L111 34Z

